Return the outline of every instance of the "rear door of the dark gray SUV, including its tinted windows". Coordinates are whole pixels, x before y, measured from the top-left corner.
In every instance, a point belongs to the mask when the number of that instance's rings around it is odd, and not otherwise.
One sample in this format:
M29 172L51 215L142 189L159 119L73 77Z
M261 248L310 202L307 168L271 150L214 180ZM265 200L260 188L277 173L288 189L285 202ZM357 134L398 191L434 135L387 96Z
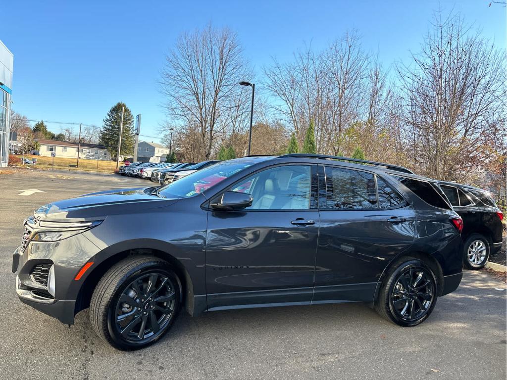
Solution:
M368 170L319 165L320 237L313 303L371 301L392 257L415 236L415 213Z

